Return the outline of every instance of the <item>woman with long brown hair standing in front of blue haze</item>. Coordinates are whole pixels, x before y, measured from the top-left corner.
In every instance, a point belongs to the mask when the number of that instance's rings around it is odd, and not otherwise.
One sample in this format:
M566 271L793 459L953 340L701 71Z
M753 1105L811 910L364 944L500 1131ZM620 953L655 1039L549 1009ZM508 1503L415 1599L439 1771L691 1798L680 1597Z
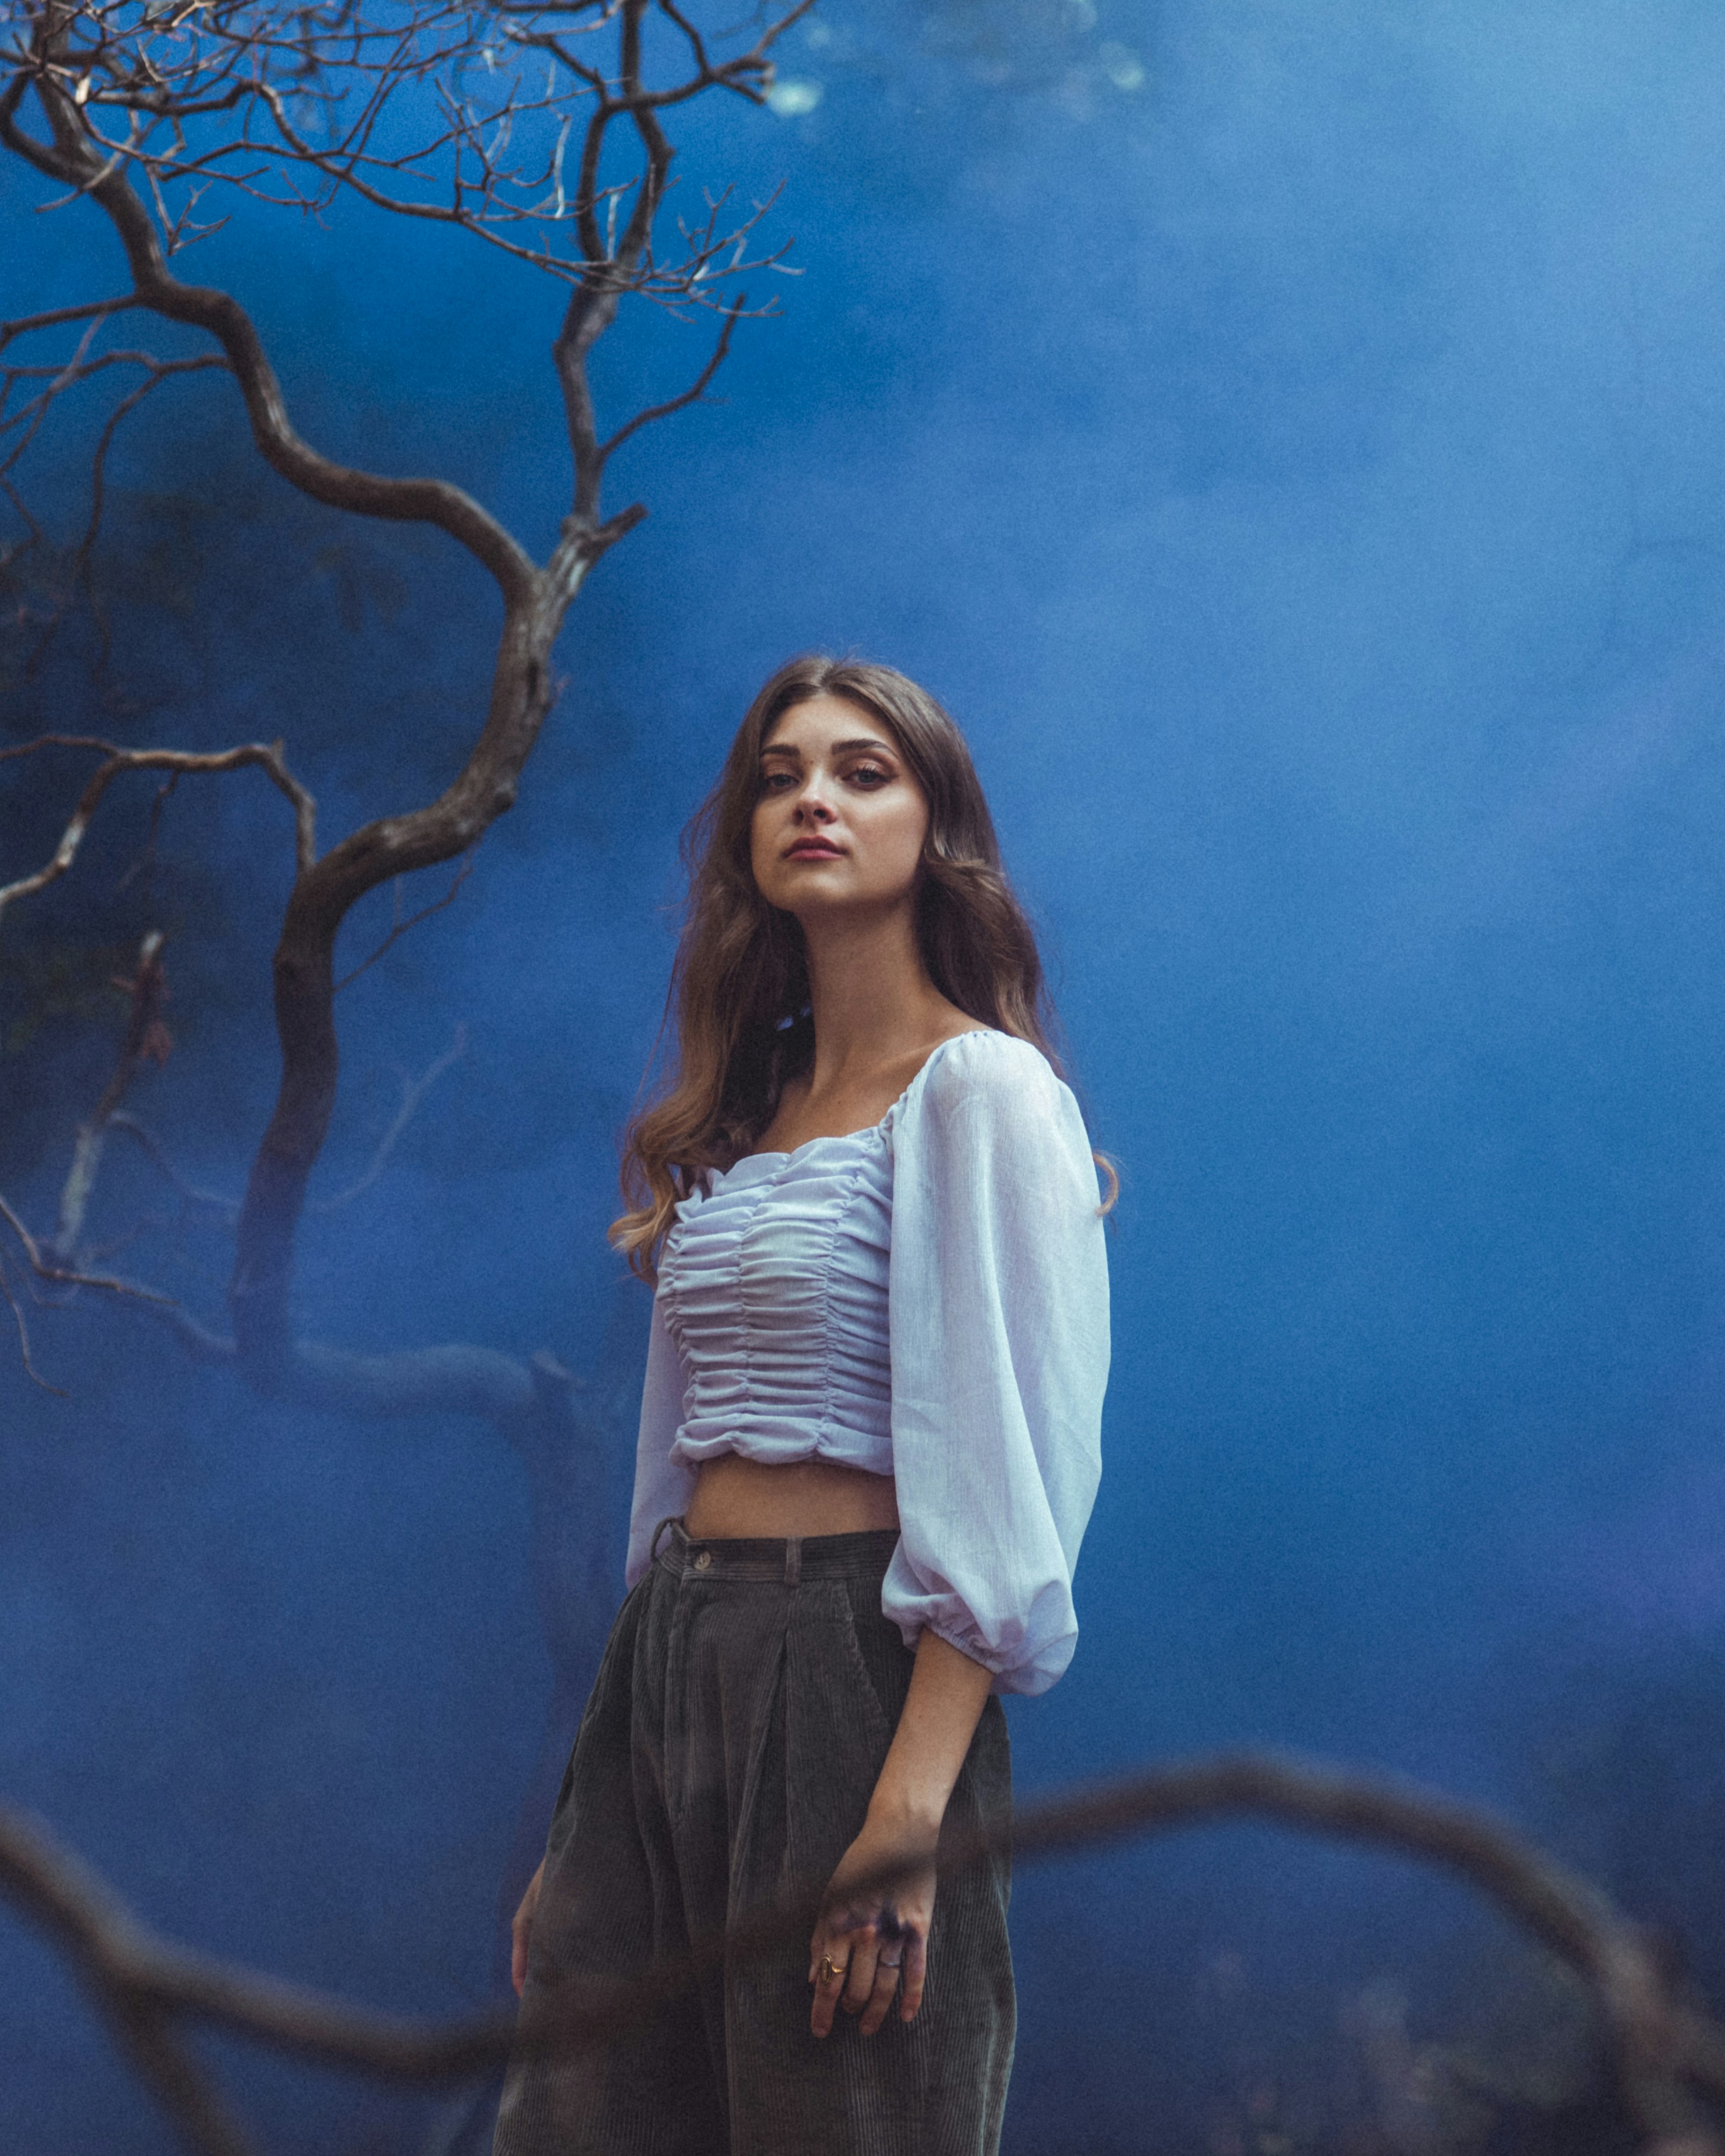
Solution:
M630 1595L515 1917L522 2027L828 1884L806 1968L729 1964L604 2050L518 2057L496 2150L985 2156L1013 2044L994 1695L1046 1690L1078 1630L1093 1156L964 740L914 681L783 666L690 841L677 1074L612 1227L658 1281ZM998 1854L936 1902L942 1830L977 1828Z

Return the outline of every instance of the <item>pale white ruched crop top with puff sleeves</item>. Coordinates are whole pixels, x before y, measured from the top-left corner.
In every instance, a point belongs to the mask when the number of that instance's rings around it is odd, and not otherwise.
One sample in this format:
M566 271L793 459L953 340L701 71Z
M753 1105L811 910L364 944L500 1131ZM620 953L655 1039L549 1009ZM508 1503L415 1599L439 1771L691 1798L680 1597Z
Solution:
M677 1205L640 1401L627 1580L694 1466L895 1479L882 1608L1044 1692L1100 1475L1108 1261L1078 1102L1029 1041L942 1041L871 1130L750 1153Z

